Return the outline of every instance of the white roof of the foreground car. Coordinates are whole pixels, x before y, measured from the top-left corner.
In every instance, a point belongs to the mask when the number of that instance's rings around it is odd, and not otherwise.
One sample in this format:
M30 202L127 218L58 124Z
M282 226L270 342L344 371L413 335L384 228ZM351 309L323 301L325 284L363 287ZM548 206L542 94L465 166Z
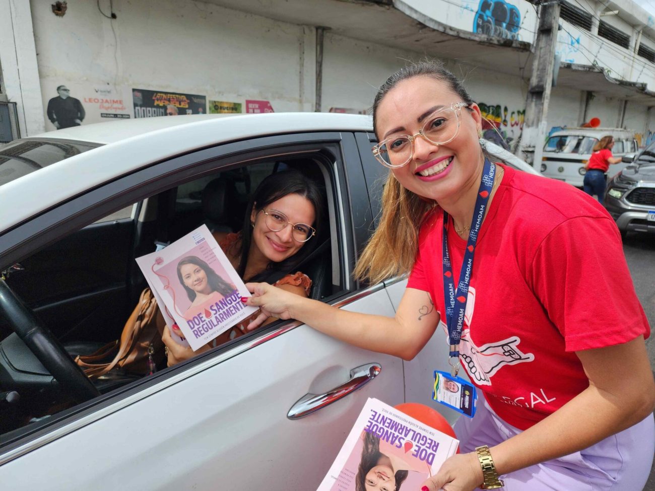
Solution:
M56 130L29 139L102 145L28 173L1 187L0 233L121 175L196 149L249 137L296 132L372 132L365 115L341 113L267 113L258 115L183 115L119 120ZM10 206L9 206L10 204Z

